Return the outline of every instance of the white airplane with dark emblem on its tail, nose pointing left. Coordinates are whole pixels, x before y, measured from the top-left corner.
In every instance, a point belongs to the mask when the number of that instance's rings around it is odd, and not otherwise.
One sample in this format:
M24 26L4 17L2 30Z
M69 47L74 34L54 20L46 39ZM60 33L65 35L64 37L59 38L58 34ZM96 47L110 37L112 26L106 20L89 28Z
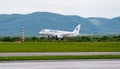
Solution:
M67 38L67 37L77 37L80 36L81 25L79 24L72 32L70 31L60 31L60 30L52 30L52 29L43 29L39 32L40 35L48 36L48 37L55 37L55 38Z

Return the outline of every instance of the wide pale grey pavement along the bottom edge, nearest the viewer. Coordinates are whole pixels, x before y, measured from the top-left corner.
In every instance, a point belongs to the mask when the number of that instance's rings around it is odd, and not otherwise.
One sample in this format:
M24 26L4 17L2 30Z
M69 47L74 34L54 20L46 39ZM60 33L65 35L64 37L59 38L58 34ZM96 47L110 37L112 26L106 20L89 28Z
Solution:
M120 60L3 61L0 69L120 69Z

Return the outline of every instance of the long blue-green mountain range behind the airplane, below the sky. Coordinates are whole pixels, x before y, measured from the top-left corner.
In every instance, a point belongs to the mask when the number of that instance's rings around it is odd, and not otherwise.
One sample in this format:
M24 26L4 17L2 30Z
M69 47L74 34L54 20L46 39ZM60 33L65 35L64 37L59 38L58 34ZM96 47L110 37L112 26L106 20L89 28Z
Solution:
M81 24L82 34L120 34L120 17L83 18L80 16L61 15L50 12L31 14L1 14L0 36L21 36L21 27L25 26L25 36L37 36L42 29L73 31Z

